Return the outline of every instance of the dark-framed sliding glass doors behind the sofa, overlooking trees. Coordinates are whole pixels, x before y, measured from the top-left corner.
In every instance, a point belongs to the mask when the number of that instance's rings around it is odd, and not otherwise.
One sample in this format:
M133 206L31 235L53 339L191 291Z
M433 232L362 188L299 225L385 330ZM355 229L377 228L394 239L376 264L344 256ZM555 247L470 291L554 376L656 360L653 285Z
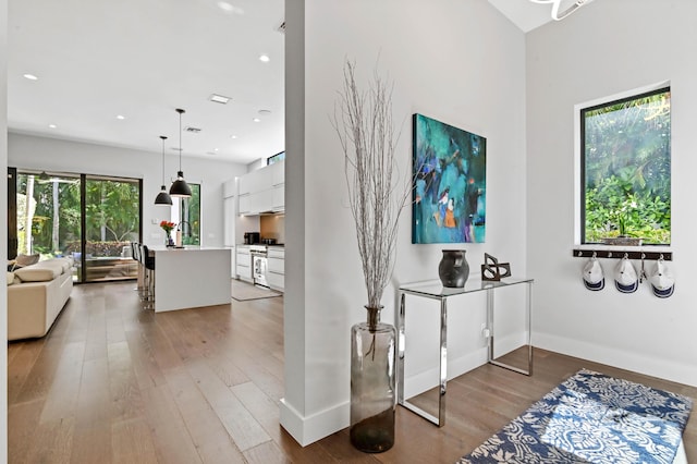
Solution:
M140 181L72 173L14 174L16 225L9 253L72 256L78 282L133 279L130 242L140 236ZM11 223L12 221L9 221Z

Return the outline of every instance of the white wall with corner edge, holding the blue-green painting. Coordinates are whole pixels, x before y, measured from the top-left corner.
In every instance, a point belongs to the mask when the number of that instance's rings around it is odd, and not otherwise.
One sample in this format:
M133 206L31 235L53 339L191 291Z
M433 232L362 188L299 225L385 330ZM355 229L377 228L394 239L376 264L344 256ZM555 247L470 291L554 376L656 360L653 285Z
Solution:
M290 12L295 15L303 5L305 14L296 22ZM342 88L344 60L355 60L363 83L376 65L394 82L394 119L404 123L398 147L402 173L409 175L412 169L415 112L487 137L487 242L463 248L474 274L489 252L523 276L525 41L486 0L289 0L286 14L286 40L304 40L296 48L286 47L285 60L288 65L304 62L292 82L286 81L286 95L304 95L301 101L286 101L286 120L303 121L286 130L286 261L302 266L293 269L299 276L286 269L281 423L307 444L348 425L350 328L366 317L343 155L329 118ZM304 35L298 38L292 28L303 21ZM411 209L402 216L394 285L438 279L441 249L452 247L412 245L411 216ZM297 244L305 247L302 256L292 255ZM394 320L394 300L395 286L390 286L382 302L382 319L389 322ZM435 373L438 308L414 302L407 313L413 329L407 377ZM480 297L451 305L449 358L461 371L485 359L484 316ZM408 346L416 350L409 352ZM455 373L453 367L451 374ZM437 381L433 375L431 386Z

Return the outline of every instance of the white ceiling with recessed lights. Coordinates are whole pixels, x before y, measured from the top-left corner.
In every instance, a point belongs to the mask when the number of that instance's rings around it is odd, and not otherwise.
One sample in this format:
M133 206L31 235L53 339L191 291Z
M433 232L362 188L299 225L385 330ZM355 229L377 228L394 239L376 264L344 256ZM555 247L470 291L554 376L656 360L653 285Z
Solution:
M524 32L550 21L549 4L489 2ZM182 108L186 156L283 151L283 15L284 0L9 0L8 126L157 154L164 135L176 155Z

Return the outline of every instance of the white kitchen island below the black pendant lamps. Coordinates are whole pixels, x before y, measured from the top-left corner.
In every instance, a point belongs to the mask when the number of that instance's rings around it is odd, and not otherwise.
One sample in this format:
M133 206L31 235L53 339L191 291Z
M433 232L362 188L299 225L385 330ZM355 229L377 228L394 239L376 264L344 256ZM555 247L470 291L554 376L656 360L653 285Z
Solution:
M187 309L231 302L229 248L156 247L155 312Z

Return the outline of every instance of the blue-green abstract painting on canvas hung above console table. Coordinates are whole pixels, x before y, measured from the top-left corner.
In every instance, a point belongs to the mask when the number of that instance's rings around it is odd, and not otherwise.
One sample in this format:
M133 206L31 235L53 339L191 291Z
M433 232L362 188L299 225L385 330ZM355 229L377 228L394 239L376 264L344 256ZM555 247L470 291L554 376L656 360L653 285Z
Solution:
M487 139L414 114L412 243L482 243Z

